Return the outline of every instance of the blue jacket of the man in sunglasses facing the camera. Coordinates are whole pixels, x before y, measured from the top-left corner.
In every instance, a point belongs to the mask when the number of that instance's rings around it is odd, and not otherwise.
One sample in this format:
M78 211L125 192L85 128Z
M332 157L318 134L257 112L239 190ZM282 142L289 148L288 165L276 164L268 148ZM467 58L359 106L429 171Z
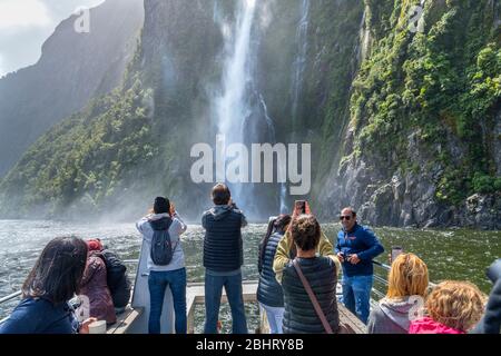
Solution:
M374 274L372 259L384 253L384 247L369 227L355 224L352 231L343 229L337 234L335 253L340 251L345 255L356 254L361 259L356 265L343 263L343 275L372 276Z

